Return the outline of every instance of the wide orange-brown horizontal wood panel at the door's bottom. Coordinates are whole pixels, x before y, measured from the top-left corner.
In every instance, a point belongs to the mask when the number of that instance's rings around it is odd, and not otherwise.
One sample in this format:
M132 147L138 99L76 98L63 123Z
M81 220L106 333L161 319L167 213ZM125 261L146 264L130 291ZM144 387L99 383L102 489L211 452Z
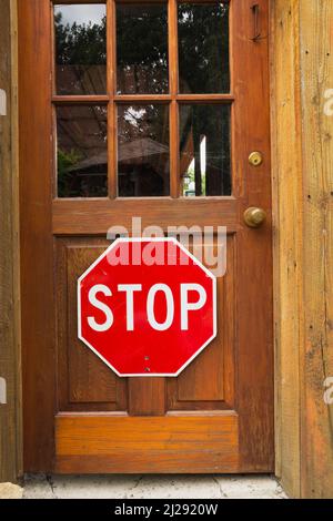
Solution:
M236 472L238 416L60 415L57 472ZM149 470L148 470L149 463Z

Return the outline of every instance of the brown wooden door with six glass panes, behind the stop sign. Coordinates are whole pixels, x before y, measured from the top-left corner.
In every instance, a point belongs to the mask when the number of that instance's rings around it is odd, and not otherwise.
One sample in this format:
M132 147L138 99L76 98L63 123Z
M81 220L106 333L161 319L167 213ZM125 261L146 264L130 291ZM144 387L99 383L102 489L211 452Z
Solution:
M272 471L269 1L59 3L19 0L24 470ZM77 279L132 216L228 227L218 337L178 378L77 336Z

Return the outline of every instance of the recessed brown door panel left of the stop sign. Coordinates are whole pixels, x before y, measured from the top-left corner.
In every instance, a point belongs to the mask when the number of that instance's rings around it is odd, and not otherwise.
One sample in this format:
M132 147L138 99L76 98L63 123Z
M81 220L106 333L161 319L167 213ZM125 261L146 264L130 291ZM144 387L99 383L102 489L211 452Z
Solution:
M78 338L77 280L107 245L99 237L56 239L60 411L127 410L127 380L110 371Z

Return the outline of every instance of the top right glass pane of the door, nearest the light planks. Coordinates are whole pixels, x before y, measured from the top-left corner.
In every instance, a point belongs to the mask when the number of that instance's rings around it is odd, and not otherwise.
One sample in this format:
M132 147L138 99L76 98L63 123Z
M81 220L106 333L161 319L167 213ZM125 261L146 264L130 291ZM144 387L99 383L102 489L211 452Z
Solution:
M229 6L180 3L178 19L180 92L229 92Z

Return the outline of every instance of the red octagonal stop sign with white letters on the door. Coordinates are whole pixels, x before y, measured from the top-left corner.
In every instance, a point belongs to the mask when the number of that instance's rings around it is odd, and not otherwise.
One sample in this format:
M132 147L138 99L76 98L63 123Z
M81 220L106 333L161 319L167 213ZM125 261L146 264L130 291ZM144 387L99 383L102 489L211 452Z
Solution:
M174 238L119 238L79 278L79 338L119 376L178 376L216 335L216 279Z

